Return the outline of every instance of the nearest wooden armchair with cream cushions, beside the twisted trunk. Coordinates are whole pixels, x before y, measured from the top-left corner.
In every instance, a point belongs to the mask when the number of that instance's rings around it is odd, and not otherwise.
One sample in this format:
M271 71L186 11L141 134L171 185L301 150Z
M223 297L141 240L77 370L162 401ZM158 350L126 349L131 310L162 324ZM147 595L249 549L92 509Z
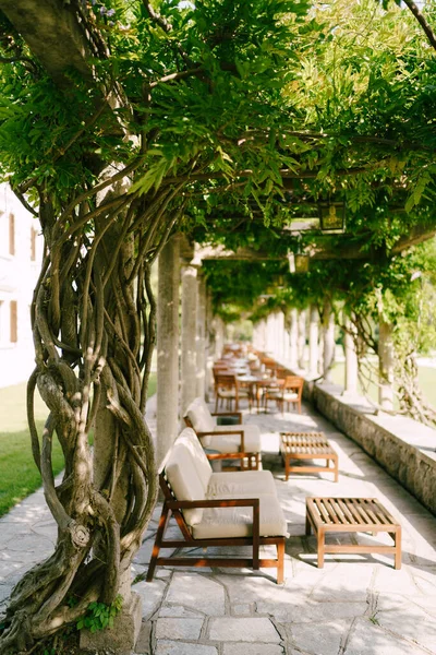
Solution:
M185 428L168 453L160 473L164 507L147 581L157 565L276 568L283 582L287 522L269 471L214 473L194 430ZM170 516L180 538L165 539ZM262 558L259 547L275 546L277 558ZM165 548L251 546L252 557L161 557Z

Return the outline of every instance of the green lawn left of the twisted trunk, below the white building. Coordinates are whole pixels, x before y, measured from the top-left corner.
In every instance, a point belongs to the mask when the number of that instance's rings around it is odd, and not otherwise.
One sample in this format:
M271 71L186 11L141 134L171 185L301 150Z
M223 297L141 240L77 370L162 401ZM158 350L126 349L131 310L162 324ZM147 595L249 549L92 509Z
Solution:
M148 395L156 392L156 373L150 374ZM47 407L39 397L35 402L35 418L39 434L47 417ZM63 456L53 440L55 474L63 468ZM0 516L41 485L32 456L31 434L26 417L26 384L0 389Z

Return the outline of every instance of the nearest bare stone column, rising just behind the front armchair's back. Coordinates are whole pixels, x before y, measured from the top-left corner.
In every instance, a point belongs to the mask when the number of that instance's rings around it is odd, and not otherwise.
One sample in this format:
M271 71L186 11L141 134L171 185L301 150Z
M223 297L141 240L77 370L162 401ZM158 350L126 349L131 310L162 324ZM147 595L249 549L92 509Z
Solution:
M159 254L157 302L157 444L158 465L179 431L179 239Z

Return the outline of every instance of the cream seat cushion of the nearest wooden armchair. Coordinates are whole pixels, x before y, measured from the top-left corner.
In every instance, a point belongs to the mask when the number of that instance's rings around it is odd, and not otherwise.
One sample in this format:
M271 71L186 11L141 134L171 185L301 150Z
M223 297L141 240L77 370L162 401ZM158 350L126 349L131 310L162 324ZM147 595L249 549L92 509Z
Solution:
M262 537L287 536L287 522L277 497L262 496L259 534ZM194 539L249 537L253 534L253 508L210 508L201 523L192 525Z

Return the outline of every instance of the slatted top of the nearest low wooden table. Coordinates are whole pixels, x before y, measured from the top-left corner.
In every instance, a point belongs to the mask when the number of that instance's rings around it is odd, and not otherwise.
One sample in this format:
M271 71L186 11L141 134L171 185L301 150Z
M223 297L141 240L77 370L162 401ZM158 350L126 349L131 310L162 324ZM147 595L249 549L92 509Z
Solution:
M317 527L332 532L389 532L398 522L376 498L306 498Z

